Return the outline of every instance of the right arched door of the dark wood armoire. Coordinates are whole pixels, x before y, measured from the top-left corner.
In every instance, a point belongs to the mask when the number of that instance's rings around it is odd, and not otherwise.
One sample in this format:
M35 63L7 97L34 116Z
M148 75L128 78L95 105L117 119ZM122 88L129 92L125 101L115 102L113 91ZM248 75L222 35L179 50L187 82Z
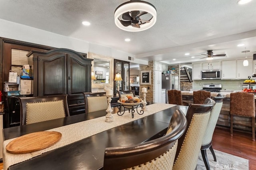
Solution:
M88 63L78 61L72 57L70 57L69 62L68 94L87 92L87 85L90 85L89 77L87 77Z

